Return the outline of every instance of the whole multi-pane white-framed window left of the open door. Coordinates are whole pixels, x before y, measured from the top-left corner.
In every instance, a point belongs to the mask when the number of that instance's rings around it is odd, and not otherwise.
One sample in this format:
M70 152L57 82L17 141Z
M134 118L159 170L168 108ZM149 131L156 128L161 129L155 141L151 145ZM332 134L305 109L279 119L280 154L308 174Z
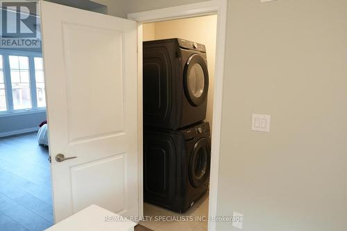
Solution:
M1 50L0 50L0 53ZM0 55L0 113L46 107L42 57Z

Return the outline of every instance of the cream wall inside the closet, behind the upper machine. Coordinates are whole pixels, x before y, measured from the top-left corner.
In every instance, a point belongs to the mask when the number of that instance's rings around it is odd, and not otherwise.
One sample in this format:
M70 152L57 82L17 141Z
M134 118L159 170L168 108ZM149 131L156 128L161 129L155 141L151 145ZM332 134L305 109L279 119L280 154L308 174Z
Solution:
M144 24L144 41L178 37L206 46L208 56L208 109L206 121L212 126L214 64L216 59L217 15Z

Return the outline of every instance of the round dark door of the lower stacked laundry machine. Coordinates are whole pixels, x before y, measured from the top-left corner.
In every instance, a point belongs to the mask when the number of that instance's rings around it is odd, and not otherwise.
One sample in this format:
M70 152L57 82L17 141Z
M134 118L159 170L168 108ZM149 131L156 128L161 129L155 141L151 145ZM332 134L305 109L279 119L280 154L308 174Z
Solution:
M206 138L195 143L189 158L189 181L193 187L201 187L210 176L211 147Z

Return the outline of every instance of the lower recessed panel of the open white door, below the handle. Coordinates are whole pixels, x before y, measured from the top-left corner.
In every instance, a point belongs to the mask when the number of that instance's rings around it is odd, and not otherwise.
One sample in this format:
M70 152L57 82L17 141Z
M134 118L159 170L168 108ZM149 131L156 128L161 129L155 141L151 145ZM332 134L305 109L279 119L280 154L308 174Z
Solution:
M72 166L70 174L73 212L79 212L90 205L92 201L93 204L107 210L125 213L126 201L128 201L125 167L126 152ZM105 178L104 176L109 177ZM90 187L85 187L87 184ZM108 196L100 198L99 190L107 191L109 196L117 194L117 201L108 200ZM88 197L81 197L81 194Z

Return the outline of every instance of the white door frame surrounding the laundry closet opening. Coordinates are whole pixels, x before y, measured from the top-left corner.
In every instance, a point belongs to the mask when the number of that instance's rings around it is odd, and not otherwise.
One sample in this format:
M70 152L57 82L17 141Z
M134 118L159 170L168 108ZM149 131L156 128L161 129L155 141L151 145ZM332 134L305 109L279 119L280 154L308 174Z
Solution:
M138 22L138 121L139 121L139 216L143 216L143 122L142 122L142 24L171 19L184 19L205 15L217 15L216 67L214 73L213 127L211 149L209 217L217 217L219 155L221 146L221 115L223 101L223 77L226 48L227 0L203 1L183 6L128 14L128 19ZM139 36L141 35L141 36ZM208 222L208 230L217 230L216 221Z

